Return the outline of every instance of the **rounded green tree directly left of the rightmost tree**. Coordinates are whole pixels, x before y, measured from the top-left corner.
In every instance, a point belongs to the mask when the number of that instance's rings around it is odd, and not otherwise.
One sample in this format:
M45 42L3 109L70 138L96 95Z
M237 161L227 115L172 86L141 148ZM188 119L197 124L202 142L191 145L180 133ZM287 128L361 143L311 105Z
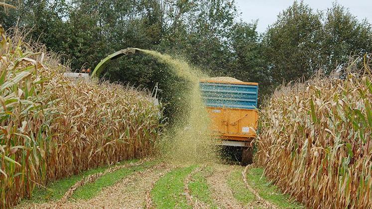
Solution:
M302 0L279 13L263 39L274 85L308 79L319 69L321 33L320 14Z

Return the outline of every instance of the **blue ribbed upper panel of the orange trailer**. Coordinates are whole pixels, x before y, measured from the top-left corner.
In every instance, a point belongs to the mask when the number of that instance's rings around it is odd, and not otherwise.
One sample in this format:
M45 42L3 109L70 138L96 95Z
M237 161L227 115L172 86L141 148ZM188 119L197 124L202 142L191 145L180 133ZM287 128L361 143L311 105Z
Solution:
M240 109L257 107L257 85L200 82L199 87L207 106Z

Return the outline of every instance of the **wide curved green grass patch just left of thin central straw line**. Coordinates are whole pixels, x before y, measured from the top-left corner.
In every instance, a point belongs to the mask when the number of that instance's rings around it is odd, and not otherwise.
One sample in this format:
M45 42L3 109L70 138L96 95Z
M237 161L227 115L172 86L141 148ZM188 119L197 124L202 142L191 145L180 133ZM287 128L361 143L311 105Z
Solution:
M197 166L175 169L160 178L151 191L156 208L191 208L184 195L184 180Z

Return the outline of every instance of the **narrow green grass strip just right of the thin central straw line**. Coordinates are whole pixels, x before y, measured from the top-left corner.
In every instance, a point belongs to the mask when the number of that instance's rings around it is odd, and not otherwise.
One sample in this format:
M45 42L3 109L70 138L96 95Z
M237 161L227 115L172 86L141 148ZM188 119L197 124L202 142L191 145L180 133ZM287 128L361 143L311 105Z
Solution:
M206 175L213 172L210 167L205 168L203 171L194 174L191 177L191 182L189 183L190 193L198 201L210 205L211 208L217 208L217 205L212 201L211 192L207 183Z

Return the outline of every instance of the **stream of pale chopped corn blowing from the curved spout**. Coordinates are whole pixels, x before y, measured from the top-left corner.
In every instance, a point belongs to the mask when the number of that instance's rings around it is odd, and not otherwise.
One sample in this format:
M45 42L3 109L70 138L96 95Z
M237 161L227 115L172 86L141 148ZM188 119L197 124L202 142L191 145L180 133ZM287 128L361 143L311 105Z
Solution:
M161 141L163 157L174 163L216 162L217 147L209 130L210 119L199 90L199 81L207 76L186 61L174 59L156 51L136 49L170 66L174 73L191 83L191 90L180 97L187 98L190 112L170 127ZM186 124L186 126L184 125Z

